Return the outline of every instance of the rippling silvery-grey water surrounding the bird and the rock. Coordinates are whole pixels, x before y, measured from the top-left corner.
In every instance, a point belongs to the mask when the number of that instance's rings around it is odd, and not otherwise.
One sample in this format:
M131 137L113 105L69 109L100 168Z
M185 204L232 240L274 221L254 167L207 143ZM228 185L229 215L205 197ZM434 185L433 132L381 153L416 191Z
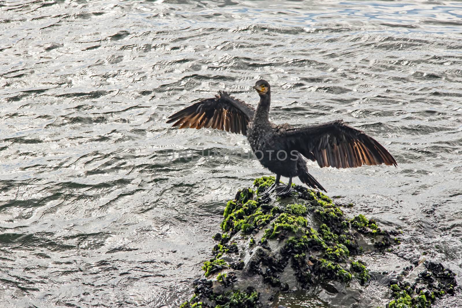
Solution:
M382 142L398 168L310 172L461 275L461 20L448 0L0 1L0 305L188 298L225 201L267 171L201 154L243 136L165 119L220 89L255 104L260 78L272 121Z

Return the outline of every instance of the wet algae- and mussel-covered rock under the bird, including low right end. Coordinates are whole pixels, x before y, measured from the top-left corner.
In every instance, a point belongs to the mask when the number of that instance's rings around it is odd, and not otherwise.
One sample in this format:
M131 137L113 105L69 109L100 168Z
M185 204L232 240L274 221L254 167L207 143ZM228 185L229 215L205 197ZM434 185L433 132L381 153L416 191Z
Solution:
M393 253L400 232L362 214L346 217L306 187L265 193L273 182L258 178L227 203L213 257L182 308L285 307L287 294L310 291L334 307L424 308L456 291L456 274L442 264Z

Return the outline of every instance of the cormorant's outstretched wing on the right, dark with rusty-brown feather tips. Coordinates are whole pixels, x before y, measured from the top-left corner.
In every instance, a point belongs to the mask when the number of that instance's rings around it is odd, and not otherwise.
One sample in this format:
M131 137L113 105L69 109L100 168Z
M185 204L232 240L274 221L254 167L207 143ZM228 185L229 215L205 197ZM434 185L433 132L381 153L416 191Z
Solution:
M366 165L395 165L393 156L360 130L343 121L287 128L289 146L303 156L317 161L320 167L355 168Z

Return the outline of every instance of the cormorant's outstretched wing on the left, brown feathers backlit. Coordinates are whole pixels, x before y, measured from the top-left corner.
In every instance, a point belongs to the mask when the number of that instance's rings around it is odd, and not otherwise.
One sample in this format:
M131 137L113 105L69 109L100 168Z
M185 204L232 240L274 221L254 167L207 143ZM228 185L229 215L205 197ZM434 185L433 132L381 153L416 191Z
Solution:
M201 99L173 115L169 116L167 123L180 128L211 127L231 133L247 133L247 125L254 117L255 109L231 97L225 91L219 91L214 98Z

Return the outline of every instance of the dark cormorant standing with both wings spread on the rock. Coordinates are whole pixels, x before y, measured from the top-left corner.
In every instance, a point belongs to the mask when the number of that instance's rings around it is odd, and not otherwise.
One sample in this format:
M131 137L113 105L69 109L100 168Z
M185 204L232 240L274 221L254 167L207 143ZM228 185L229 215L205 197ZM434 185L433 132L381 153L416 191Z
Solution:
M276 174L274 185L267 191L280 184L281 175L289 178L288 185L278 194L290 191L294 176L309 187L326 191L308 173L302 155L317 161L319 167L356 168L382 163L396 166L395 158L381 144L342 120L302 127L271 123L268 120L270 85L260 79L253 88L260 96L256 110L225 91L219 91L214 98L201 99L170 115L167 123L175 122L172 126L180 128L211 127L247 136L263 167Z

